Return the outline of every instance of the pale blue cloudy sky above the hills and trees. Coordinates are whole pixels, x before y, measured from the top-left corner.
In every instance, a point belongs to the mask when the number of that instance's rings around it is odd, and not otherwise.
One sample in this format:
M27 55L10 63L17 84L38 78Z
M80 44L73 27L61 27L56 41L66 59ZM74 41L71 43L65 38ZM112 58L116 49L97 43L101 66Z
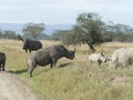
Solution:
M82 12L133 27L133 0L0 0L0 22L73 24Z

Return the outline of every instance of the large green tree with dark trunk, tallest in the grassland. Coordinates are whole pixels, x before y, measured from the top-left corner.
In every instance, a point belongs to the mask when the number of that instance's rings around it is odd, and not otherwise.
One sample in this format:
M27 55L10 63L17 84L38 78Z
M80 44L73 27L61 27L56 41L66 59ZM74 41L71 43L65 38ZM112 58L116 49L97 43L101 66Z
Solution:
M76 42L88 43L91 50L95 43L102 41L101 34L104 30L104 23L95 13L81 13L76 19L76 24L73 27L73 32Z

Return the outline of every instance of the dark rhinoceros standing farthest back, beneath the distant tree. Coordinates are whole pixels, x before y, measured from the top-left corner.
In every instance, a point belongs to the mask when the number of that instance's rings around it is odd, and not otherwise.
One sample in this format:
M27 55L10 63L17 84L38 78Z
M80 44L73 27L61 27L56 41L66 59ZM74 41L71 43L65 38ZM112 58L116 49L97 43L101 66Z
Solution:
M25 52L28 52L28 50L29 52L31 52L33 50L38 50L41 48L42 48L42 43L40 41L30 40L30 39L24 40L23 49L25 50Z

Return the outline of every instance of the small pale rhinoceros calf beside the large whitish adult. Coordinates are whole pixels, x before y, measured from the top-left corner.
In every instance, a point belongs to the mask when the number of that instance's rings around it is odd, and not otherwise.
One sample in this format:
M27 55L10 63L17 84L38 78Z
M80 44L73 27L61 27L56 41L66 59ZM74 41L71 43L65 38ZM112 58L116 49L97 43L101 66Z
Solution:
M106 61L106 58L104 53L92 53L89 56L90 62L98 62L98 64L101 64L102 62Z

